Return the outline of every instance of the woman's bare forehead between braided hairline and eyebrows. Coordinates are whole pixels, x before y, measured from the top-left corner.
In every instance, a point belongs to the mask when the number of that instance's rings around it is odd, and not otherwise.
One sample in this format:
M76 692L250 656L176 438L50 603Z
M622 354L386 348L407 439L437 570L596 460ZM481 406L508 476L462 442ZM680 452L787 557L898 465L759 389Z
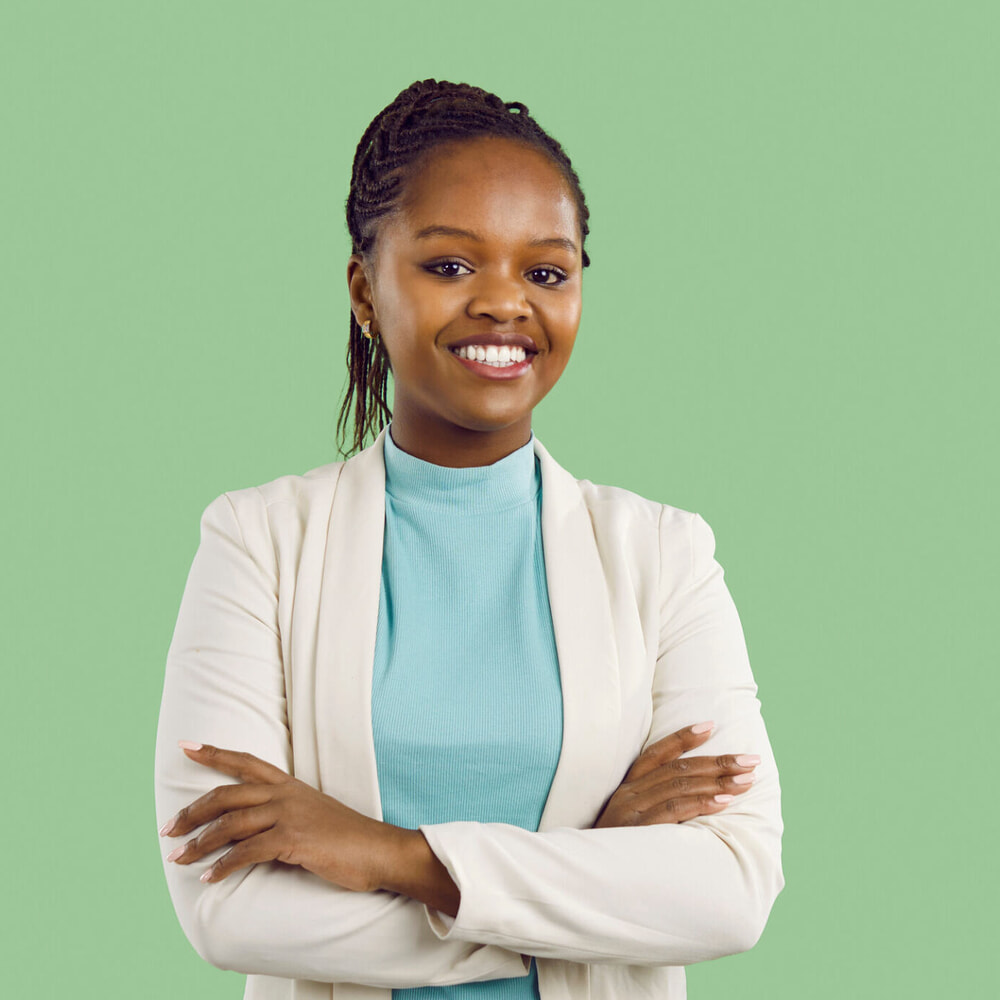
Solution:
M541 150L492 136L429 150L407 182L397 220L411 232L446 225L579 239L576 201L556 164Z

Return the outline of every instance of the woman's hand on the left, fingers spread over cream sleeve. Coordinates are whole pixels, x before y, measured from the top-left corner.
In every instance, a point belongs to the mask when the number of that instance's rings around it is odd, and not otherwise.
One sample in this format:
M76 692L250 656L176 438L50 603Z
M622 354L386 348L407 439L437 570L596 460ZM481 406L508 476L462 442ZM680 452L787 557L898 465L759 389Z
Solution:
M213 788L164 824L160 834L170 837L204 826L168 861L189 865L233 844L201 876L203 882L281 861L356 892L381 888L393 852L402 849L410 831L364 816L252 754L195 746L183 746L191 760L240 783Z

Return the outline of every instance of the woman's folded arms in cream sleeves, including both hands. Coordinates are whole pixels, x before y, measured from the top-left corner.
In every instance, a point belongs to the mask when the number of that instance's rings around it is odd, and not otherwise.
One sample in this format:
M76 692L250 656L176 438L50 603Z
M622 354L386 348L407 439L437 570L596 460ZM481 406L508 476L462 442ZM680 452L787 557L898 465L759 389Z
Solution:
M709 741L711 730L678 729L650 746L589 831L535 834L463 823L401 830L267 763L287 759L275 748L287 752L290 734L279 713L262 709L261 690L278 682L248 678L257 671L280 679L280 652L268 645L254 609L218 599L219 580L210 595L199 593L199 559L228 560L227 574L256 572L235 522L215 528L203 535L185 591L178 622L184 639L168 658L164 704L172 707L161 714L157 753L168 885L182 926L208 961L245 973L406 987L523 975L524 955L686 964L756 940L760 914L766 918L780 889L776 777L769 768L761 795L759 785L736 780L754 774L753 755L681 756ZM220 545L224 558L211 551ZM738 740L763 750L773 764L745 650L742 661L734 659L713 631L713 602L730 614L721 570L706 564L694 576L700 579L680 601L686 610L673 616L661 649L653 732L718 708L726 745ZM731 622L726 627L732 631ZM730 664L730 675L695 678L706 642ZM206 678L190 654L220 649L241 665L222 671L224 691L222 675ZM705 694L705 684L714 694ZM239 733L261 756L176 747L178 738L204 732L185 732L190 717L178 706L204 701L206 685L213 711L226 716L225 726L206 726L206 735ZM231 780L213 787L217 774ZM636 857L657 859L656 877L643 885L635 884ZM606 912L604 900L622 885L629 892L617 896L627 898ZM508 898L494 905L506 886ZM504 910L509 919L499 926L494 913Z

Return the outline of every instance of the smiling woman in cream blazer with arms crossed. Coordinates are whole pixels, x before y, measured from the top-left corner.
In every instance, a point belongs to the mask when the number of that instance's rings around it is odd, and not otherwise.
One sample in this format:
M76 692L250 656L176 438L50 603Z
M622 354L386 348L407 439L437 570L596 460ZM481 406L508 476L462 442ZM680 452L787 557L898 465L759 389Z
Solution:
M782 887L777 773L708 526L531 432L577 175L523 105L427 80L347 214L358 454L208 507L168 655L181 924L253 998L682 997Z

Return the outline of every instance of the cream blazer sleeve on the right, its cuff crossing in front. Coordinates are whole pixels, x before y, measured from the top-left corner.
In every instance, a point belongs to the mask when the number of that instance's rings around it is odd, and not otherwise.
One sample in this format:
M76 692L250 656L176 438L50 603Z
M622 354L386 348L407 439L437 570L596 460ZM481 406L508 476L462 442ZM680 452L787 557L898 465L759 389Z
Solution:
M422 827L461 891L455 918L428 910L442 940L630 965L687 965L757 942L784 885L778 775L714 553L702 518L664 508L647 745L713 719L696 754L760 754L757 781L721 813L681 824L540 833L501 824Z

